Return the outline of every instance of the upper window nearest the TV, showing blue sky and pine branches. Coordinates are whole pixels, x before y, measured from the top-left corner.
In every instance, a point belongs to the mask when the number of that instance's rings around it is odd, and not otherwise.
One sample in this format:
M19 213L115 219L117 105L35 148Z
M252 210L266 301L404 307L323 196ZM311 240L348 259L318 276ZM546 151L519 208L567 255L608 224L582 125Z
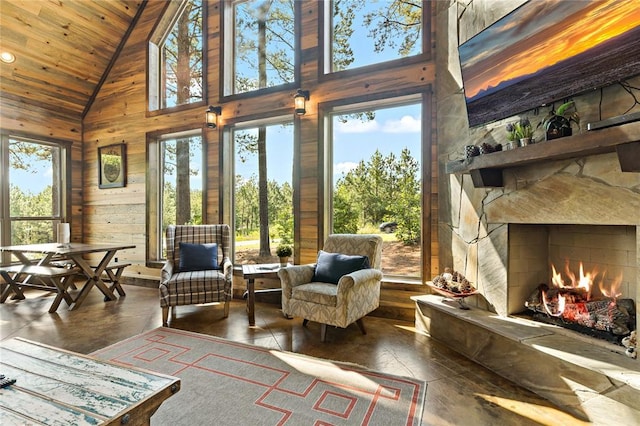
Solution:
M330 49L325 72L419 55L423 51L420 0L333 0L325 3Z

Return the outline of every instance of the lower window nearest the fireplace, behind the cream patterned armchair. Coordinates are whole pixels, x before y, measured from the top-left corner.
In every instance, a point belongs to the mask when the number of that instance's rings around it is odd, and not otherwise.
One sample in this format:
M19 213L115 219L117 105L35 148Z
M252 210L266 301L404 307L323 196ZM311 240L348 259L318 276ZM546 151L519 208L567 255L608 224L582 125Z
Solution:
M338 108L329 119L331 230L382 235L386 276L421 275L422 107L415 102Z

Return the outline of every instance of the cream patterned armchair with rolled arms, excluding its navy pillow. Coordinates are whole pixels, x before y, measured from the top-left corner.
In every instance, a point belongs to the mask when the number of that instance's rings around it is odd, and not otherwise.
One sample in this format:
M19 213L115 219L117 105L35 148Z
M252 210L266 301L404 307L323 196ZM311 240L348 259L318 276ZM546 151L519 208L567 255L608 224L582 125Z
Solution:
M312 281L315 264L282 268L278 276L282 284L282 312L287 317L304 318L321 323L320 339L324 342L327 325L345 328L356 322L366 334L362 318L380 304L382 271L382 238L379 235L333 234L323 251L345 255L364 255L370 269L343 275L337 284Z

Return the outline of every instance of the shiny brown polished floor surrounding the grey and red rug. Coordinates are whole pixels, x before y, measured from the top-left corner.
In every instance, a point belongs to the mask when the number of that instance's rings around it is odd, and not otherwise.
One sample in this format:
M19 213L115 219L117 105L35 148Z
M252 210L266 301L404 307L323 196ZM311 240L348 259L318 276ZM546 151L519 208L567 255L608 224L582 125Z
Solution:
M0 305L0 338L19 336L87 354L161 326L158 291L124 288L127 295L116 301L105 303L94 291L79 309L68 311L63 303L53 314L47 312L53 296L31 291L26 300ZM355 324L329 328L322 343L318 324L303 327L300 318L287 320L271 303L256 304L256 326L249 327L244 301L234 300L226 319L221 306L178 307L170 326L421 378L428 382L425 425L584 424L416 332L412 322L376 317L364 321L366 335Z

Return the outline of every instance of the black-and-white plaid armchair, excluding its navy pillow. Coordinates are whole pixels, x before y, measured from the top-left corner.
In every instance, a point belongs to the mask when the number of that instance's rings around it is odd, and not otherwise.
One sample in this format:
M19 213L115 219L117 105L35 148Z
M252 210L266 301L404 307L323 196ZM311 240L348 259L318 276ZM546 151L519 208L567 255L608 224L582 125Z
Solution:
M169 225L167 227L167 262L160 275L162 325L168 326L169 307L224 302L224 317L229 316L232 297L233 265L229 225ZM179 270L180 243L218 245L219 269ZM175 314L175 312L172 312Z

